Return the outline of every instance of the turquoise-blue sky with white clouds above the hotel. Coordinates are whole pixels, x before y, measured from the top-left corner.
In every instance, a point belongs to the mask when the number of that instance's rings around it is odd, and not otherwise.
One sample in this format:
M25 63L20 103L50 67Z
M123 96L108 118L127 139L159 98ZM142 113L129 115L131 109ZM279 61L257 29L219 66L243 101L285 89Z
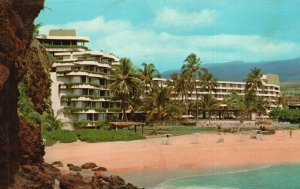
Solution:
M75 29L103 50L161 72L195 53L203 64L300 57L300 0L46 0L40 33Z

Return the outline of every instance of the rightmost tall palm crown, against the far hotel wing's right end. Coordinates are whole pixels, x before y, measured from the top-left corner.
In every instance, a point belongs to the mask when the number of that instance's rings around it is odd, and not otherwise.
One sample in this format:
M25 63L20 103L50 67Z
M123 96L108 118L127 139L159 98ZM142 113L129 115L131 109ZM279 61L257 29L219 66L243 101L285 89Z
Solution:
M258 89L264 90L261 76L262 73L259 68L252 69L246 78L245 91L257 92Z

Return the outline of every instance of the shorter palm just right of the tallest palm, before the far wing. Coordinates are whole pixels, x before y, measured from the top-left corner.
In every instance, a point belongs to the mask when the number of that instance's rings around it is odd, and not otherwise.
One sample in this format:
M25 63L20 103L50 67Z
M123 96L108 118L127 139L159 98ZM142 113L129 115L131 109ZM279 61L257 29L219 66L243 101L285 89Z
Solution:
M199 78L200 78L200 85L201 85L201 91L205 92L202 98L202 101L204 101L205 106L204 109L208 109L208 115L209 120L211 117L211 108L216 107L216 99L212 98L211 93L216 91L216 88L218 87L217 80L215 79L214 75L208 71L206 68L202 68L203 73L198 72ZM212 102L214 102L212 104ZM205 111L203 113L203 118L205 117Z

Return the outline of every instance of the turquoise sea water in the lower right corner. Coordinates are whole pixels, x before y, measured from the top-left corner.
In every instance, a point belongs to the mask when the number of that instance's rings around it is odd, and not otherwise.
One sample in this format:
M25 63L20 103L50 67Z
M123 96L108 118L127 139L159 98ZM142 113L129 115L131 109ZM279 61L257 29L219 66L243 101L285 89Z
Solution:
M300 164L174 179L159 188L300 189Z

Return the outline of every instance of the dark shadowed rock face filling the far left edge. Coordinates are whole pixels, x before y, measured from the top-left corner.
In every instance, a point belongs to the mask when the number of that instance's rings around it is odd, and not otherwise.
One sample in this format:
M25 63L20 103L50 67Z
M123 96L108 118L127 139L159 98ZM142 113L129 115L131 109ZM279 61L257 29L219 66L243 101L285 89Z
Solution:
M0 188L13 183L22 161L17 84L27 70L33 21L43 5L44 0L0 1Z

